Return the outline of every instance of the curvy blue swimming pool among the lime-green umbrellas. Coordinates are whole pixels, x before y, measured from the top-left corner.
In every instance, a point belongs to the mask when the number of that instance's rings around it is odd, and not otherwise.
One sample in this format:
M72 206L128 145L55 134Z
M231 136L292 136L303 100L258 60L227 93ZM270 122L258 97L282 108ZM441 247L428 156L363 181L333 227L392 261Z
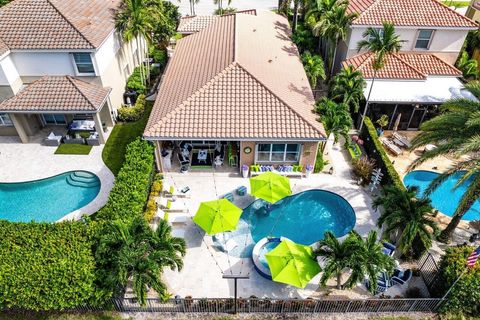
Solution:
M227 240L234 239L238 244L229 254L251 257L254 244L265 237L285 237L304 245L322 240L326 231L342 237L353 229L355 222L355 212L348 201L325 190L297 193L273 205L256 200L244 209L237 229L226 234ZM222 246L221 242L216 245Z

